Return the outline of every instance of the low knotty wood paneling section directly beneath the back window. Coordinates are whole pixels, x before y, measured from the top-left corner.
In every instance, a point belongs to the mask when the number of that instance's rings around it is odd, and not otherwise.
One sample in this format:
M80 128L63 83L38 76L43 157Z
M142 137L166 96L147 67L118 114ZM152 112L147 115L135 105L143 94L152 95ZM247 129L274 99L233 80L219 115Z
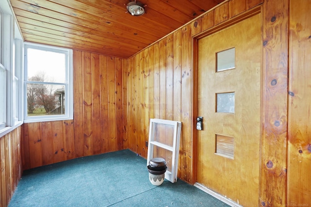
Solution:
M75 158L73 120L24 123L23 170Z

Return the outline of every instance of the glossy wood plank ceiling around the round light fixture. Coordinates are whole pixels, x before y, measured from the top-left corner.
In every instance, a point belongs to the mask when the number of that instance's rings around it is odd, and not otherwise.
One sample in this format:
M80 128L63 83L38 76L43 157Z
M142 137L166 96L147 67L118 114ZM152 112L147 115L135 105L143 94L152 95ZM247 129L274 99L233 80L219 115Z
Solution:
M9 0L8 0L9 1ZM224 0L10 0L27 42L129 58Z

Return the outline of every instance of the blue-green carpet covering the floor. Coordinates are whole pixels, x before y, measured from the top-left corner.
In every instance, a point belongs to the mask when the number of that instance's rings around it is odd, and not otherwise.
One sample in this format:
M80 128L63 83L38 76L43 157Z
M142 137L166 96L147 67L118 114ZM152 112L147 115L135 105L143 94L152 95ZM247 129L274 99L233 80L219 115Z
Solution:
M180 179L152 185L146 162L121 150L27 170L9 207L227 207Z

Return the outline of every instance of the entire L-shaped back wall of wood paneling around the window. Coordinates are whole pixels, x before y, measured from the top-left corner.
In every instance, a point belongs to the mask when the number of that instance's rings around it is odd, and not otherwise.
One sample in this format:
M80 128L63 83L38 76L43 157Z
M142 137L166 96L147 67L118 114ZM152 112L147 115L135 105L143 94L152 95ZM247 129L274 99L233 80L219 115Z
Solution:
M124 59L74 50L74 119L25 123L23 170L123 149L126 67Z

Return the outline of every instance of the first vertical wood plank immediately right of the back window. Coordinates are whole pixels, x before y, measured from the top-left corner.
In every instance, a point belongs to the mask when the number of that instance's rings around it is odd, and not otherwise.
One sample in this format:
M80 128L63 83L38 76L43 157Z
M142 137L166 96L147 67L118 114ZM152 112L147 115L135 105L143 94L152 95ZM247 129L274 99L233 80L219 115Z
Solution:
M82 51L73 50L73 114L74 114L74 153L76 157L83 154L83 87L82 87Z

